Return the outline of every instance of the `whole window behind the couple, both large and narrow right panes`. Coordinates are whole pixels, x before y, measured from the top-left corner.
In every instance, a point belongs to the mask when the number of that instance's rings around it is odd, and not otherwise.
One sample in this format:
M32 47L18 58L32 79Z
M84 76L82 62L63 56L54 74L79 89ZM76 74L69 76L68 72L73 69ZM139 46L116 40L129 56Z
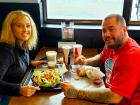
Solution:
M111 13L122 15L127 25L140 25L140 0L42 0L44 22L60 24L101 24Z

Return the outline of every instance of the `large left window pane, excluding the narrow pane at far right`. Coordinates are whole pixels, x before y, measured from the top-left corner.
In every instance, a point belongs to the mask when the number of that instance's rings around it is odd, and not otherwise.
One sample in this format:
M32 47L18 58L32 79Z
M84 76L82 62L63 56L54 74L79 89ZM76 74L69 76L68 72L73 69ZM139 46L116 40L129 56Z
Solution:
M47 23L71 20L75 23L100 24L110 13L123 14L124 0L44 0ZM115 4L115 5L114 5Z

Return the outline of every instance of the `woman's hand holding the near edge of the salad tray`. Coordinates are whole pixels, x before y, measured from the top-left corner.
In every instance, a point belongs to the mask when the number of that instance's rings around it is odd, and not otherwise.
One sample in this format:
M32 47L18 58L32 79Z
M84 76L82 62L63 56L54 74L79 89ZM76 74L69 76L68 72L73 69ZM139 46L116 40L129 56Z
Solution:
M32 96L37 90L40 90L40 88L35 86L21 86L20 94L23 96Z

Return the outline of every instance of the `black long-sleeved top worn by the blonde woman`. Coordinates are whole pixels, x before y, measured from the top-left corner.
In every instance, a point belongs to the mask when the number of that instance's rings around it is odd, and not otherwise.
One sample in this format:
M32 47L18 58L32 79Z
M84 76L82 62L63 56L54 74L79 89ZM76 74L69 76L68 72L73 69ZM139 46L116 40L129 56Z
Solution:
M19 95L29 62L29 53L20 46L0 43L0 96Z

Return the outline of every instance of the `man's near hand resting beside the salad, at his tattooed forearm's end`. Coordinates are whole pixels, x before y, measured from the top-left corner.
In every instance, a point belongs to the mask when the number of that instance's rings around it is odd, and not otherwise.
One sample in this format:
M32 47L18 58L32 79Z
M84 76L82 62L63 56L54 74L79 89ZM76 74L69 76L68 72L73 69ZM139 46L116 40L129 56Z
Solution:
M68 98L77 98L78 89L68 82L62 82L61 88L64 91L64 95Z

